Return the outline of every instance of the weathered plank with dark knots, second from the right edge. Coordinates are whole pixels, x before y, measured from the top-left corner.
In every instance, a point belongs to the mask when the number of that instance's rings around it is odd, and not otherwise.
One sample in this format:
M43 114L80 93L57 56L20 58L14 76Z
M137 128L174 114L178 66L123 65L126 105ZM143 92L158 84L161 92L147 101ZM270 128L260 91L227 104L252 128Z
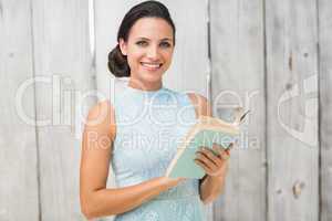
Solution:
M319 218L315 1L266 4L268 220Z

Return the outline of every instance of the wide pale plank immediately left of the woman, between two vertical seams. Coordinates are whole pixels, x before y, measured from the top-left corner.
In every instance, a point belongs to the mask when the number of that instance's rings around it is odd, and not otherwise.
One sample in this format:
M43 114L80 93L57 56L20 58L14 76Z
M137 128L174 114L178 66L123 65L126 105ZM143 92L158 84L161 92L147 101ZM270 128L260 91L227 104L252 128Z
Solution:
M33 1L42 220L83 220L79 198L81 119L95 103L89 2ZM86 98L87 94L92 97ZM82 113L81 113L82 110Z

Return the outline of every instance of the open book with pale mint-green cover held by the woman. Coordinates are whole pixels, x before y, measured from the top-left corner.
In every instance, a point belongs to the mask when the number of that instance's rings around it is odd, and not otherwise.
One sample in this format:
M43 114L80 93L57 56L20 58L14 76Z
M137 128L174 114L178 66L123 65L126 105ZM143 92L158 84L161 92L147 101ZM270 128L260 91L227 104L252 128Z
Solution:
M238 110L232 123L208 116L198 117L197 123L189 129L186 138L178 146L177 154L166 170L166 177L203 178L205 171L195 162L195 152L201 146L210 148L211 149L212 144L228 148L240 134L240 124L248 113L249 110L246 113L242 109Z

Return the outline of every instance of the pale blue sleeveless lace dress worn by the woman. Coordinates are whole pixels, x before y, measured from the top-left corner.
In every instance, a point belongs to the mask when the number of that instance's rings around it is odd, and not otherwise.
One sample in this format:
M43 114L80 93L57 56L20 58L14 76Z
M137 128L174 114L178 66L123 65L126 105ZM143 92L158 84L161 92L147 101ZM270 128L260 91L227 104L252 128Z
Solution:
M196 123L195 107L185 93L160 87L127 86L114 101L116 137L112 168L117 187L163 177L177 144ZM197 179L187 179L115 221L205 221Z

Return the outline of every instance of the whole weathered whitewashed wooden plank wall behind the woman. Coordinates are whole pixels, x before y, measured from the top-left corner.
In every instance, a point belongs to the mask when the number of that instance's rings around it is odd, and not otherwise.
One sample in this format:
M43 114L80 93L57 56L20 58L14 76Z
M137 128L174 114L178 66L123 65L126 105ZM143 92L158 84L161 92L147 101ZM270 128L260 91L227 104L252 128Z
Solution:
M107 53L137 2L0 0L0 220L84 220L82 120L121 93ZM215 116L251 109L208 220L330 221L332 2L162 2L177 27L165 85Z

